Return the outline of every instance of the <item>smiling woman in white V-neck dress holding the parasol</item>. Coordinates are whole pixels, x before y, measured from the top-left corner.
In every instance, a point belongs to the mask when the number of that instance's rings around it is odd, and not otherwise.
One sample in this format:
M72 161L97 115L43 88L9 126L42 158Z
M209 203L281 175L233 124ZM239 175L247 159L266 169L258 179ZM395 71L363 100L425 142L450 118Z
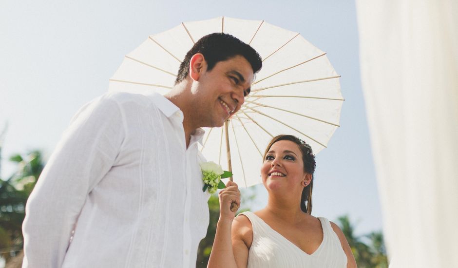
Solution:
M311 215L315 156L292 135L278 135L267 146L261 177L267 206L235 217L237 185L220 192L218 220L209 268L354 268L344 233L327 219Z

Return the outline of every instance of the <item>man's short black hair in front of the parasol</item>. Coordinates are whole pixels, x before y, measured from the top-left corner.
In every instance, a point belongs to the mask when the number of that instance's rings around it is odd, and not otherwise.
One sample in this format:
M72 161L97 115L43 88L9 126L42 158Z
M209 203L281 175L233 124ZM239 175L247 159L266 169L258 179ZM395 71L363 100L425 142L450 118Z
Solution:
M180 64L175 85L188 76L191 57L197 53L204 55L208 64L208 71L211 71L219 61L239 55L247 59L254 74L261 70L263 66L261 56L248 44L229 34L213 33L200 38L188 51L185 59Z

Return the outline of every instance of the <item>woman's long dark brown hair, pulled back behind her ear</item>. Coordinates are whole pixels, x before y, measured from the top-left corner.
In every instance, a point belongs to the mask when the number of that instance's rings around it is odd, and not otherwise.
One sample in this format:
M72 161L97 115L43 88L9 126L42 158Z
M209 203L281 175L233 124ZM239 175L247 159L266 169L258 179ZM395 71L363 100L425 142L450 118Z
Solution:
M293 135L278 135L270 140L269 144L267 145L266 152L264 153L263 159L266 158L267 152L270 150L272 145L280 140L289 140L297 144L299 150L302 153L302 161L304 162L304 172L307 172L312 175L312 179L310 184L304 187L302 190L301 196L301 210L307 214L312 213L312 190L313 190L313 173L316 169L316 162L315 162L315 155L312 152L312 148L310 145L306 144L305 141L302 139L293 136Z

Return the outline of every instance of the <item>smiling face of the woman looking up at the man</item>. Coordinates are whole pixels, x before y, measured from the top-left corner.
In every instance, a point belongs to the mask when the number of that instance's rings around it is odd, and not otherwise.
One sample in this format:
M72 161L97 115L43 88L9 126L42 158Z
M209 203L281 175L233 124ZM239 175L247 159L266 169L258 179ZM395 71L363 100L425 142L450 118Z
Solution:
M268 191L302 191L308 177L306 174L302 153L298 145L289 140L272 144L261 167L263 184Z

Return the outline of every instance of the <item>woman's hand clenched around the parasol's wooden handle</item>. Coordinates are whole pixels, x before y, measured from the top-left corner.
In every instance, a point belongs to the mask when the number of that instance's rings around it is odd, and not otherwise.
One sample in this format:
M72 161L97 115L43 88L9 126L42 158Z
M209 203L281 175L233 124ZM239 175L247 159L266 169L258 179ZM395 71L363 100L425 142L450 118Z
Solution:
M231 208L231 204L232 205ZM234 206L236 209L234 209ZM240 191L235 182L229 181L226 188L219 192L219 217L220 220L233 220L235 212L240 207ZM232 209L232 210L231 210Z

